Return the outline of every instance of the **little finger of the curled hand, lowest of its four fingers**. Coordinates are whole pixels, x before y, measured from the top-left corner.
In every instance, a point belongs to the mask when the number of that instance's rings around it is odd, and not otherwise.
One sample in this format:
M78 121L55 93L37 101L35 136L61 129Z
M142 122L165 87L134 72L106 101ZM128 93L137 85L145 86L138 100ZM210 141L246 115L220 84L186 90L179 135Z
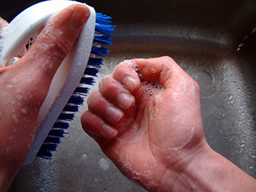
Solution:
M105 139L113 139L117 136L118 131L112 126L105 123L102 118L94 115L91 111L86 111L81 117L83 130L89 135L97 135Z

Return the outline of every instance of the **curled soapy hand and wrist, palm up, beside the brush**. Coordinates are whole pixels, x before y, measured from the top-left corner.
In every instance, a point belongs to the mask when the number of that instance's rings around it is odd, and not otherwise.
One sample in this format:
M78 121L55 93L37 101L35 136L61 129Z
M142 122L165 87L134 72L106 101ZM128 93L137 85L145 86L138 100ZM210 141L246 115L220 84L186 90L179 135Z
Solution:
M88 107L83 129L124 175L148 191L256 188L252 177L208 146L200 88L172 58L118 64L91 93Z

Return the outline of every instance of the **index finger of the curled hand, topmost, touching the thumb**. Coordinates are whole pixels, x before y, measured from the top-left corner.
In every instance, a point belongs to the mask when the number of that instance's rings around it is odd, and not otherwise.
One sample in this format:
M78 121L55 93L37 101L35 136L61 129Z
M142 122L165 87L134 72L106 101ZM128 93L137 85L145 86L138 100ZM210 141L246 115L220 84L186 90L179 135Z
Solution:
M118 64L113 72L113 78L131 93L140 88L140 79L132 66L132 61L127 60Z

